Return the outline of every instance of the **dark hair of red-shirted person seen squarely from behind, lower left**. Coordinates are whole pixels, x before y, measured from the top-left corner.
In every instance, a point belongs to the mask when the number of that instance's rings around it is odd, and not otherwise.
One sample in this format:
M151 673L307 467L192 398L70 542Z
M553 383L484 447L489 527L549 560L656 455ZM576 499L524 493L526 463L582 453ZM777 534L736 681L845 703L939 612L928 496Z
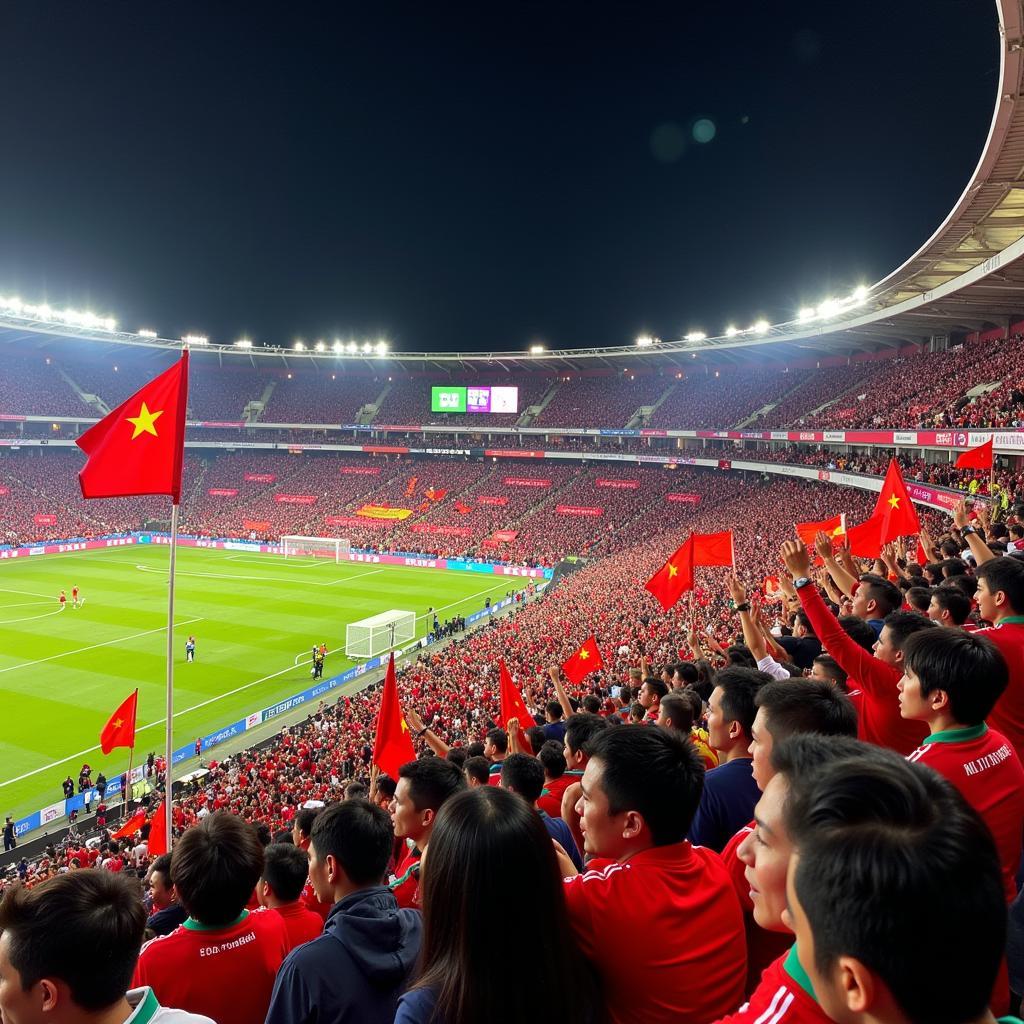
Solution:
M256 829L227 811L208 814L171 852L178 901L210 928L223 928L242 913L262 873L263 845Z

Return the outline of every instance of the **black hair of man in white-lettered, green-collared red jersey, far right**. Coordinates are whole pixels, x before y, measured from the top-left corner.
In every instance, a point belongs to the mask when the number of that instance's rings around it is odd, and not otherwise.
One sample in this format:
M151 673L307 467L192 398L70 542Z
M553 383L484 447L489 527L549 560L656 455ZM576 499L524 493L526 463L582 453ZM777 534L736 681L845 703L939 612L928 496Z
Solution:
M1010 682L1006 658L991 640L963 630L918 633L903 644L903 669L921 681L921 695L944 690L961 725L980 725Z

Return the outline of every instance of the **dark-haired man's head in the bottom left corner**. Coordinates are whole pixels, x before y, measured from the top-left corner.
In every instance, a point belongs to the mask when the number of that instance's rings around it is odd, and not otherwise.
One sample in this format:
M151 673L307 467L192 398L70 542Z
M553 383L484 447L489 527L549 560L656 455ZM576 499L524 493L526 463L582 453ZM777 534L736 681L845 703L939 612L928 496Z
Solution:
M46 1024L115 1008L144 931L138 883L117 871L10 889L0 903L0 1020Z

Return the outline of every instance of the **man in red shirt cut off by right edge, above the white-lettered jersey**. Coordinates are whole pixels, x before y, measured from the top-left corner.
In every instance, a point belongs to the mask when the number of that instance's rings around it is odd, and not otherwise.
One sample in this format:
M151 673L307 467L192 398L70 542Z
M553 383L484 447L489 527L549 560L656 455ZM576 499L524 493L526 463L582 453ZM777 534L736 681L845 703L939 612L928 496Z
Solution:
M974 540L972 537L971 540ZM978 566L978 611L991 629L977 635L991 640L1007 660L1010 682L988 716L1024 762L1024 563L996 557Z

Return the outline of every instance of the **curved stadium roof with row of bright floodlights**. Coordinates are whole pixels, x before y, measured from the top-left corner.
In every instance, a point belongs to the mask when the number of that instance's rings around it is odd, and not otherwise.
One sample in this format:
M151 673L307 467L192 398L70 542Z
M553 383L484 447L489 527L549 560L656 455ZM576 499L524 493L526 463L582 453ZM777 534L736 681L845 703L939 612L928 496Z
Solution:
M182 340L221 362L312 364L355 373L481 374L501 371L563 374L622 370L625 360L685 370L693 358L746 362L854 354L928 344L1024 319L1024 0L995 0L999 19L999 77L988 137L959 200L930 239L901 266L870 288L802 310L787 323L759 323L706 338L638 339L636 345L494 352L388 352L377 342L324 341L303 348L208 344L205 339L164 339L113 329L90 314L55 323L45 309L2 308L0 342L46 346L56 338L178 348ZM926 163L923 155L923 164ZM836 240L837 245L842 240Z

